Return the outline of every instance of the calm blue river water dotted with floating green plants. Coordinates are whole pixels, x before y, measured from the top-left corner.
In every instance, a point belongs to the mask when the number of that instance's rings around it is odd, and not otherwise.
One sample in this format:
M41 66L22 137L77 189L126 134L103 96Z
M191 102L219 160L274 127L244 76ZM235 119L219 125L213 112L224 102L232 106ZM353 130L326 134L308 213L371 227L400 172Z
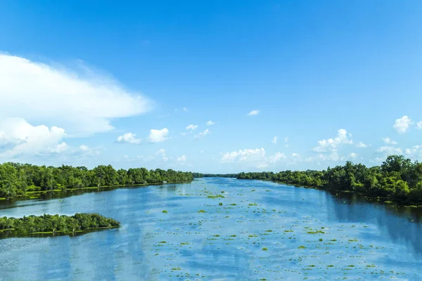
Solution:
M320 190L203 178L0 205L0 216L76 212L122 228L1 239L0 280L422 280L411 208Z

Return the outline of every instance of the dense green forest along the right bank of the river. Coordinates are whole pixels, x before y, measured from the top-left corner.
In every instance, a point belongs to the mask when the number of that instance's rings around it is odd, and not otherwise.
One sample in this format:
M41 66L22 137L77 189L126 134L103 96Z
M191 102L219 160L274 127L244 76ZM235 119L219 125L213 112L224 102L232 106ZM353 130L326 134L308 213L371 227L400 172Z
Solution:
M240 173L239 179L261 179L327 190L354 191L408 204L422 203L422 163L390 155L381 166L346 162L324 171Z

